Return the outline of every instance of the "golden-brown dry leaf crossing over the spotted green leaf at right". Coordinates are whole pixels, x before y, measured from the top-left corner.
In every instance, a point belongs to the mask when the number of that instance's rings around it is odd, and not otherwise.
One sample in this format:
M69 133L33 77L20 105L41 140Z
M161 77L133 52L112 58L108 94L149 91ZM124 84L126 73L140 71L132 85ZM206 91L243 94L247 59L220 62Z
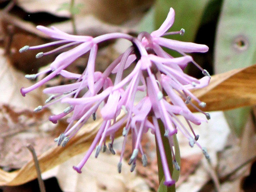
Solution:
M206 103L204 111L229 110L256 104L256 65L212 76L210 84L193 93ZM191 111L196 111L190 106Z

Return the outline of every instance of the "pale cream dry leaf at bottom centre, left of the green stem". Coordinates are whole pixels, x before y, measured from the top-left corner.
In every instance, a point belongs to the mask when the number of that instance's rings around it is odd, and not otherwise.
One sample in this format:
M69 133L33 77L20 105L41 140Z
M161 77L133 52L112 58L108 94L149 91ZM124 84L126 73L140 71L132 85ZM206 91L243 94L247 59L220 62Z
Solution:
M43 179L56 177L60 188L64 192L149 192L146 182L134 172L130 172L130 166L123 162L122 172L117 172L119 156L100 153L95 158L89 157L81 174L74 172L72 166L78 164L84 154L70 158L63 164L43 173Z

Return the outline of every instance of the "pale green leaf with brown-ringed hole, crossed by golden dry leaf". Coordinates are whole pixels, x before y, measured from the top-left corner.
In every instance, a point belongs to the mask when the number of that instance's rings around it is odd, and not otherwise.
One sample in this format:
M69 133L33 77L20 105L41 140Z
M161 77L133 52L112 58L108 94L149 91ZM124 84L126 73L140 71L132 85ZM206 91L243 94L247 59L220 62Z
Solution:
M256 4L254 0L225 0L215 40L215 73L243 68L256 62ZM225 113L230 128L239 136L248 108Z

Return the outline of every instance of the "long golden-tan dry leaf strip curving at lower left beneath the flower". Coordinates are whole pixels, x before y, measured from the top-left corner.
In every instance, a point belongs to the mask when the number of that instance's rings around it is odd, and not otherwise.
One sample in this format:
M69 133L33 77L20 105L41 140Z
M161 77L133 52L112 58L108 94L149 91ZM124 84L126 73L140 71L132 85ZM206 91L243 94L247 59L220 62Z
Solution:
M86 151L94 139L102 120L86 124L75 137L70 139L64 148L55 146L38 157L41 172L67 161L69 158ZM121 135L122 130L116 132ZM36 178L36 169L33 160L25 164L20 170L5 172L0 170L1 185L20 185Z

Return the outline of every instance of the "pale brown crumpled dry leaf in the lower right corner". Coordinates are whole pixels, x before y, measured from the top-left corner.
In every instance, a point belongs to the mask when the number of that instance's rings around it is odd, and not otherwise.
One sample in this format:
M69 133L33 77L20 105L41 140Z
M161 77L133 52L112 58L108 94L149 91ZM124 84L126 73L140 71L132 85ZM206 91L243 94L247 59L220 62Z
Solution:
M247 161L255 160L256 156L256 132L251 116L247 119L242 137L237 138L234 134L230 134L226 145L225 150L219 154L220 181L221 183L232 180L241 182L244 176L249 175L253 163Z

